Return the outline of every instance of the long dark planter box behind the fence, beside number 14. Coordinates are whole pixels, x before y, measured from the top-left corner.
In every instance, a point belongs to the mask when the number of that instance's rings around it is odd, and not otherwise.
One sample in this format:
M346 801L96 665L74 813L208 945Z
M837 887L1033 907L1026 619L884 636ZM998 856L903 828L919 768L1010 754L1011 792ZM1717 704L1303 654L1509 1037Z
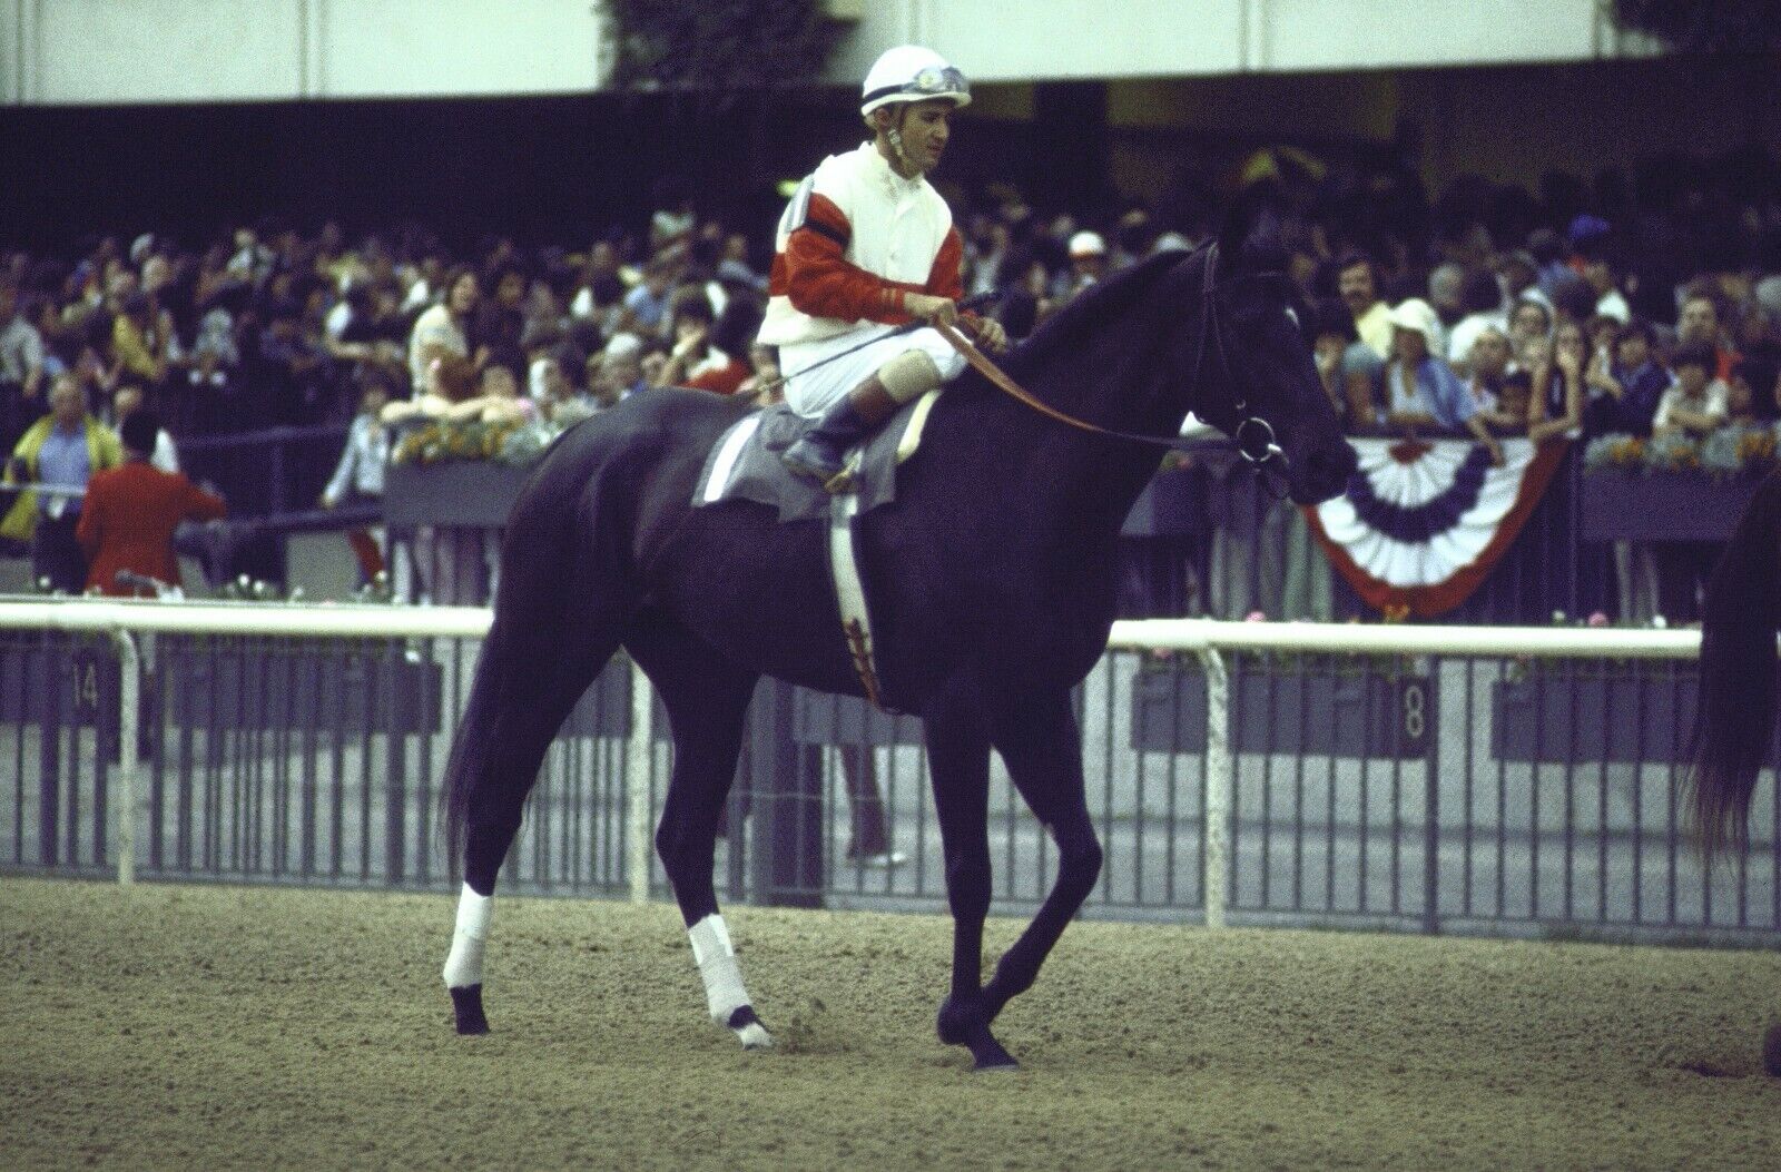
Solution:
M160 671L175 728L438 732L445 705L438 663L381 648L180 652Z

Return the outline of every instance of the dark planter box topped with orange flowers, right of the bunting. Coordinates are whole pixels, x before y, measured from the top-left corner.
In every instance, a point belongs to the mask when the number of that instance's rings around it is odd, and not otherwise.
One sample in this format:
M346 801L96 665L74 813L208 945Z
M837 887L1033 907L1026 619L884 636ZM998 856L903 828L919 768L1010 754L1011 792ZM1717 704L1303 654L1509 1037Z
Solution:
M1760 474L1706 472L1583 474L1585 541L1724 541L1731 536Z

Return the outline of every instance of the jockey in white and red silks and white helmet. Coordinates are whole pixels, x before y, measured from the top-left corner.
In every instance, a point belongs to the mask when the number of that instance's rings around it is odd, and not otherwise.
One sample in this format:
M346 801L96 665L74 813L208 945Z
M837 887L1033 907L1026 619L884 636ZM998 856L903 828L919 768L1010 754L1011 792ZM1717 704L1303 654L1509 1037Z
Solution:
M830 492L846 488L850 447L965 367L933 328L896 326L962 324L992 351L1008 344L999 322L958 312L964 242L924 178L969 102L971 84L933 50L887 50L860 96L873 141L825 159L780 217L760 344L780 351L791 408L819 419L785 465Z

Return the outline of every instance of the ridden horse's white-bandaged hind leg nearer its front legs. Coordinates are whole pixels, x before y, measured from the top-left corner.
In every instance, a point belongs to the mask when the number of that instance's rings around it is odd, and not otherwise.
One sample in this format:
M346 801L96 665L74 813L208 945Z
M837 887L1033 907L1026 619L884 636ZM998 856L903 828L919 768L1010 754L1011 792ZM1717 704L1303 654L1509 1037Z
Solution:
M736 1031L743 1049L771 1047L773 1037L743 985L711 878L718 818L736 777L743 720L759 677L661 618L639 622L625 645L661 693L673 727L673 777L655 851L686 921L693 964L705 983L705 1008L714 1022Z

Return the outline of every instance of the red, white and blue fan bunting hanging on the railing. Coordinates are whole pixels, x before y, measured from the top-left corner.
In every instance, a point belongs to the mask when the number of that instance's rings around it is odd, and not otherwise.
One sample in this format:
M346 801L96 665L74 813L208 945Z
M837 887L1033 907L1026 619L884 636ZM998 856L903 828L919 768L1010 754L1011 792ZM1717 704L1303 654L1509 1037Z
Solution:
M1330 565L1380 613L1432 618L1464 602L1564 461L1564 440L1503 440L1503 467L1471 440L1352 440L1348 492L1305 509Z

